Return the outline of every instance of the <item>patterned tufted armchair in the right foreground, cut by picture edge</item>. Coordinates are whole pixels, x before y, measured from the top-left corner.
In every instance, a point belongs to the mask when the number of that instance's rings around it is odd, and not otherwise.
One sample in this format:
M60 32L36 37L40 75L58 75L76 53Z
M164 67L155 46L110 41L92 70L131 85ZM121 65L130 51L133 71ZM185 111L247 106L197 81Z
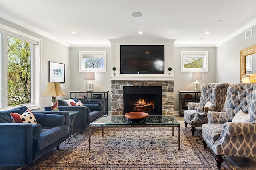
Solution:
M217 168L224 155L256 157L256 83L229 86L227 110L208 112L207 117L209 123L202 125L204 149L208 145L216 154Z

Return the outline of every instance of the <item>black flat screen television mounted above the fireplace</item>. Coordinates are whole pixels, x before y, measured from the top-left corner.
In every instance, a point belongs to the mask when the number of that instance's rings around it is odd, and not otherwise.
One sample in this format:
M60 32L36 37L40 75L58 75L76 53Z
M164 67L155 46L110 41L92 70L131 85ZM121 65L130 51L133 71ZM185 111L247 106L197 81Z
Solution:
M121 74L164 74L164 45L120 45Z

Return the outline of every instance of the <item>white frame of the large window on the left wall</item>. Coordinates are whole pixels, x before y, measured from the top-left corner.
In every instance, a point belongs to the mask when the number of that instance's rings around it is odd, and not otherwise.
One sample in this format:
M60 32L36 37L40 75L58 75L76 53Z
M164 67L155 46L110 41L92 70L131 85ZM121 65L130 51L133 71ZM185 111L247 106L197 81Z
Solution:
M4 37L10 36L16 39L20 39L22 41L29 42L31 44L31 103L24 104L23 106L27 106L29 109L39 109L41 108L41 98L40 98L40 90L41 90L41 39L8 27L6 25L0 24L0 34L1 34L1 43L0 50L2 53L0 54L0 68L2 74L1 82L0 82L0 110L13 109L20 106L9 106L8 107L8 94L7 94L7 43L3 42Z

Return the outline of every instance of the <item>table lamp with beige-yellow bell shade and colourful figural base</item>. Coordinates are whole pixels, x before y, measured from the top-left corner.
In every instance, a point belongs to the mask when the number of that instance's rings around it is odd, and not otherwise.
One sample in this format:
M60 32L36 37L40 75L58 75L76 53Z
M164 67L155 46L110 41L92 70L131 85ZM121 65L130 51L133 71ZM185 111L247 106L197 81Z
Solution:
M48 82L46 89L40 96L52 96L52 111L59 111L58 105L58 99L54 96L64 96L66 93L63 92L62 88L60 87L60 82L55 82L55 80L52 80L53 82Z

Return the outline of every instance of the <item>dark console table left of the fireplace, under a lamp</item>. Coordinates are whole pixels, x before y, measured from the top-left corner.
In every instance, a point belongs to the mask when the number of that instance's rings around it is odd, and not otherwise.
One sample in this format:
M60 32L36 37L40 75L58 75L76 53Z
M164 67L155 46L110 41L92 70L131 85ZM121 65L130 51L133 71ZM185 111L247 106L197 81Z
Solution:
M70 91L70 98L72 99L72 94L75 94L75 98L81 100L82 102L93 102L93 101L101 102L103 115L108 115L108 92L109 91L105 91L105 92ZM79 98L77 94L86 94L86 96L85 98ZM101 99L93 98L94 94L96 95L101 94L102 98Z

